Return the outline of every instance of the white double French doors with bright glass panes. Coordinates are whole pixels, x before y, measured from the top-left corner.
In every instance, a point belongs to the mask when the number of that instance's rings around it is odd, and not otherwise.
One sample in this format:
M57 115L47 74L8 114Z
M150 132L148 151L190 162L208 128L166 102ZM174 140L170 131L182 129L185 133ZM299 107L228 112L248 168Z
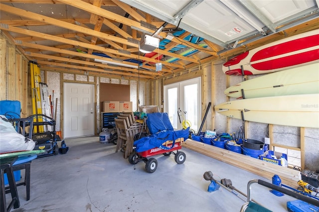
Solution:
M164 111L174 129L182 129L181 122L188 120L197 131L201 118L201 78L194 78L164 86ZM181 110L178 115L178 110Z

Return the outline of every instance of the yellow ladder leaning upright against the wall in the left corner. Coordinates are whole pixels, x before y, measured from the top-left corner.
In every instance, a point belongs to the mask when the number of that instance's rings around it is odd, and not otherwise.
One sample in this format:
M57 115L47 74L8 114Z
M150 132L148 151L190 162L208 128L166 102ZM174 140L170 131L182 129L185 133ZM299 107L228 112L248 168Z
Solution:
M32 90L32 112L33 114L42 114L41 96L39 83L41 82L40 68L36 62L30 61L31 71L31 90ZM36 118L34 122L42 122L42 118ZM43 125L36 126L34 132L44 132Z

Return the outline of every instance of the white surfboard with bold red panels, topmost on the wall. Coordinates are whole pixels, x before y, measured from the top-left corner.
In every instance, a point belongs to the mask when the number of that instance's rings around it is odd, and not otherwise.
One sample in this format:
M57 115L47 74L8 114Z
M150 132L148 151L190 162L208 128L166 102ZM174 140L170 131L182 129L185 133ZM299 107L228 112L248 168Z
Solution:
M223 64L227 75L282 71L319 62L319 29L284 38L235 56Z

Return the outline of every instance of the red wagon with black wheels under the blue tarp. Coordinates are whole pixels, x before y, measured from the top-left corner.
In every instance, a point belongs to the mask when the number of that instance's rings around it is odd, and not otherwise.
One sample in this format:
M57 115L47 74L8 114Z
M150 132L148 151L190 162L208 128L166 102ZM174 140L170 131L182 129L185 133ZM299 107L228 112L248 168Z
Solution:
M181 149L181 145L183 141L184 141L184 138L177 138L175 140L174 146L169 150L164 150L157 147L157 148L149 149L143 152L136 152L134 149L129 156L129 162L131 164L137 164L140 161L144 161L146 163L145 169L148 173L153 173L156 171L158 167L158 161L155 158L148 159L147 157L151 157L151 156L155 156L159 154L163 154L164 156L169 156L170 154L173 154L175 155L175 162L177 164L182 164L186 160L186 155L184 152L178 151L178 150ZM165 141L162 145L170 148L172 144L173 144L173 141L168 140L168 141Z

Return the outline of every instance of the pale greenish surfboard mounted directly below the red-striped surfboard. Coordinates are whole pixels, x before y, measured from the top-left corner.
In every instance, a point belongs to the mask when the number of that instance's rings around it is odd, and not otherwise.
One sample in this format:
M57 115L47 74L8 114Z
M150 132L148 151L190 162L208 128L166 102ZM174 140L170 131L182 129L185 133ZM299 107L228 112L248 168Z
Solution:
M224 93L237 99L319 94L319 63L247 80L227 88Z

